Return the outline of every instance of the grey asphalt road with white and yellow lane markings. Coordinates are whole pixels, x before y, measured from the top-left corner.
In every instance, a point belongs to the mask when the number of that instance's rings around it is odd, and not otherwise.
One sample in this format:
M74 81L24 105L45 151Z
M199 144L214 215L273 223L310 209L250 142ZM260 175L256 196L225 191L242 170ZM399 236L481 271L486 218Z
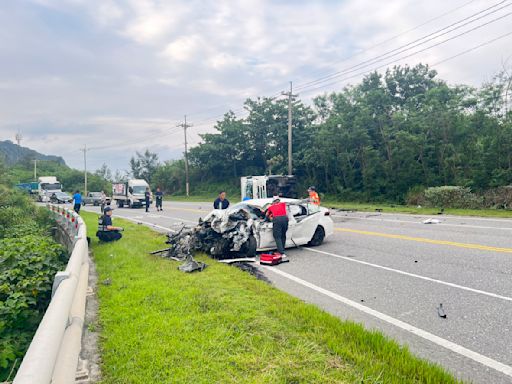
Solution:
M85 207L86 210L99 209ZM211 203L116 209L166 231L197 223ZM322 246L260 267L278 288L378 329L474 383L512 383L512 220L333 211ZM438 315L442 303L446 318Z

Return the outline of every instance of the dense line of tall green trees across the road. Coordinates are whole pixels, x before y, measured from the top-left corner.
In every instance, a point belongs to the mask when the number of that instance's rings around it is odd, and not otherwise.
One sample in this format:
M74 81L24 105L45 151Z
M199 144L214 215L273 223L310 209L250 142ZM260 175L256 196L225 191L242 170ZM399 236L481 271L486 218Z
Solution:
M476 89L425 65L394 67L359 84L293 103L294 173L342 199L403 201L411 191L512 182L512 76ZM287 100L258 98L226 113L190 150L197 182L286 173Z

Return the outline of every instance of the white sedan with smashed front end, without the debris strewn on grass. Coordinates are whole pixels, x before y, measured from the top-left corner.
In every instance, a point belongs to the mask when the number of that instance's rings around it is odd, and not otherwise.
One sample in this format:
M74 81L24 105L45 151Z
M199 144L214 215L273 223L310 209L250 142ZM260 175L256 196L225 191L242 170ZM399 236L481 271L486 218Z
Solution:
M316 246L333 233L333 221L329 210L297 199L281 199L288 208L288 231L286 248L299 245ZM204 229L212 229L229 242L217 242L218 246L204 249L212 256L221 256L235 252L239 256L254 256L256 251L276 248L272 235L272 222L265 220L265 210L272 204L272 199L254 199L238 203L226 210L214 210L202 221ZM207 224L206 227L204 225ZM198 233L203 244L207 234L212 231ZM229 245L228 245L229 244ZM228 246L229 249L226 247Z

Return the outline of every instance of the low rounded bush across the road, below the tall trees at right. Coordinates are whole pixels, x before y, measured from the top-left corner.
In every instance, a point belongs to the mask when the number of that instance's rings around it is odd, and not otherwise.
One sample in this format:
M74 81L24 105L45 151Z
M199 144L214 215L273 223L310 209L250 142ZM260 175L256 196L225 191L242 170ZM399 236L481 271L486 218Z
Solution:
M437 208L482 208L483 199L467 187L442 186L427 188L424 192L425 203Z

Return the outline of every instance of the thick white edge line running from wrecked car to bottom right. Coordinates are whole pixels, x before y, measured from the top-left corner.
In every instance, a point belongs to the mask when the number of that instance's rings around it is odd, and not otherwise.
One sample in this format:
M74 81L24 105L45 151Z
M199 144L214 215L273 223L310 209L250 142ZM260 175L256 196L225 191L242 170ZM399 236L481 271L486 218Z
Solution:
M476 361L477 363L485 365L486 367L492 368L492 369L494 369L498 372L501 372L509 377L512 377L512 367L511 366L500 363L499 361L491 359L490 357L481 355L478 352L467 349L461 345L455 344L449 340L443 339L442 337L436 336L436 335L434 335L430 332L427 332L423 329L417 328L411 324L408 324L401 320L395 319L394 317L386 315L382 312L379 312L379 311L371 309L367 306L361 305L353 300L347 299L346 297L343 297L334 292L328 291L327 289L324 289L315 284L312 284L310 282L302 280L296 276L290 275L289 273L283 272L282 270L277 269L275 267L263 267L262 266L262 268L265 270L271 271L273 273L276 273L278 275L281 275L289 280L292 280L300 285L310 288L310 289L312 289L316 292L319 292L325 296L328 296L336 301L339 301L340 303L348 305L348 306L355 308L361 312L364 312L368 315L374 316L382 321L385 321L386 323L392 324L398 328L401 328L407 332L410 332L416 336L419 336L425 340L428 340L428 341L430 341L434 344L437 344L443 348L446 348L452 352L455 352L459 355L467 357L473 361Z

